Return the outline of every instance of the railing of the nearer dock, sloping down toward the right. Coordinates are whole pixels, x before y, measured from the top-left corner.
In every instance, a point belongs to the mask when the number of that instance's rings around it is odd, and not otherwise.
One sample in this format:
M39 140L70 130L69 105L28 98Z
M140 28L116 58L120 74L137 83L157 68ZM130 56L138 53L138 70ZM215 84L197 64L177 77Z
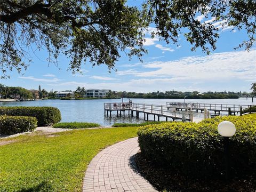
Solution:
M162 105L149 105L145 103L104 103L105 110L134 110L159 116L193 119L193 111L177 111L175 108Z

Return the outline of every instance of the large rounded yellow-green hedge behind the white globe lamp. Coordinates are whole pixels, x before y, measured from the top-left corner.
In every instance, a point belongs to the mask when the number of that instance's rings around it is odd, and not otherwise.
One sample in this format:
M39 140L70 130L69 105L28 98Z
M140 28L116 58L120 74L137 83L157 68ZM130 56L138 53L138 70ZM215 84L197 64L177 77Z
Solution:
M217 126L233 122L236 134L230 141L231 174L256 171L256 119L246 116L215 117L201 123L171 122L147 125L138 130L141 154L161 166L193 178L225 175L223 137Z

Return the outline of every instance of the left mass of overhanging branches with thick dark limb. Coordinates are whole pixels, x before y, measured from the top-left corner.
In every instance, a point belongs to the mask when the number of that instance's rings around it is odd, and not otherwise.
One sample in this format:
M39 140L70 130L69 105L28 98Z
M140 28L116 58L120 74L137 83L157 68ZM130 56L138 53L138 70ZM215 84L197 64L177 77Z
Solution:
M65 54L73 72L86 60L113 69L127 47L129 57L146 53L142 32L147 22L125 1L6 0L0 14L2 76L7 69L26 69L33 47L46 47L48 61L55 64Z

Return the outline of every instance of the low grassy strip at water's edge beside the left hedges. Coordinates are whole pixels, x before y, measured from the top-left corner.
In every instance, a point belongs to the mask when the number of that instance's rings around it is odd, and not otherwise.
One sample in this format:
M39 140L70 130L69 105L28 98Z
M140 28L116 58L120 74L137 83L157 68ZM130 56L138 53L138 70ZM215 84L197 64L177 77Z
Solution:
M66 128L66 129L82 129L90 127L99 127L98 123L85 123L85 122L71 122L71 123L55 123L54 128Z

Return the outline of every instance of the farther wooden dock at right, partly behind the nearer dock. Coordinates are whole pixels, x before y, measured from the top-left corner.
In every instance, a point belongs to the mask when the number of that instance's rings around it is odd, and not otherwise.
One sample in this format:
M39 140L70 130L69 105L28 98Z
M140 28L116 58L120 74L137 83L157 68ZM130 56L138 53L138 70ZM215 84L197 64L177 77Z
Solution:
M243 109L247 109L252 107L251 105L230 105L230 104L213 104L213 103L181 103L181 102L166 102L166 106L168 109L175 110L185 110L187 111L188 108L191 110L196 110L196 112L203 111L207 109L208 111L214 111L214 114L219 114L220 112L229 112L230 115L242 113Z

